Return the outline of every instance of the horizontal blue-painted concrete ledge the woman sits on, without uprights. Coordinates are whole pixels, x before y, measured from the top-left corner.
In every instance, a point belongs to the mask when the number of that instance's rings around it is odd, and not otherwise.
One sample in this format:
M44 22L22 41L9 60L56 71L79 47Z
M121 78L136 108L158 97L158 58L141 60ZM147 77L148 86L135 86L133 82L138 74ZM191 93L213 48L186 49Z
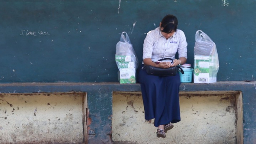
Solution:
M248 87L249 86L249 87ZM34 93L34 92L87 92L108 88L112 91L135 92L140 91L140 84L119 83L12 83L0 84L1 93ZM210 84L182 83L180 91L241 91L256 90L256 82L216 82Z

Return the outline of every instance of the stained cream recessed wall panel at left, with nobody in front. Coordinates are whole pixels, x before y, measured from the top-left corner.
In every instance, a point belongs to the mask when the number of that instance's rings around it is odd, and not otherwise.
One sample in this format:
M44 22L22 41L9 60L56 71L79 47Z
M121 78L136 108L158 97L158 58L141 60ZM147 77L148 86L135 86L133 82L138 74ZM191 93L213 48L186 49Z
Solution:
M84 142L85 93L0 94L0 144Z

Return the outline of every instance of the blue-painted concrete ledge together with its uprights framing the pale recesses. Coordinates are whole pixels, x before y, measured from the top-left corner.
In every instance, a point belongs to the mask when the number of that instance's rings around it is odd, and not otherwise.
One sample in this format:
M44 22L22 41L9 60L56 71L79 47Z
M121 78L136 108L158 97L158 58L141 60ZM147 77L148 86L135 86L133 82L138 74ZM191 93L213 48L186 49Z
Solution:
M243 142L256 143L256 83L216 82L211 84L183 83L180 92L240 91L243 102ZM112 93L140 92L140 84L118 83L13 83L0 84L1 93L86 92L91 123L88 143L111 144Z

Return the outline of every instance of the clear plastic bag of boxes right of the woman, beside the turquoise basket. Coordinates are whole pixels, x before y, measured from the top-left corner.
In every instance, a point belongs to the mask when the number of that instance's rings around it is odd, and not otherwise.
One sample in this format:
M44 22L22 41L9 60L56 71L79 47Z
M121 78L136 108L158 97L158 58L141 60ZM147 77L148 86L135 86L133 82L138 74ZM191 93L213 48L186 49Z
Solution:
M215 43L202 30L196 31L194 83L216 82L219 67L219 58Z

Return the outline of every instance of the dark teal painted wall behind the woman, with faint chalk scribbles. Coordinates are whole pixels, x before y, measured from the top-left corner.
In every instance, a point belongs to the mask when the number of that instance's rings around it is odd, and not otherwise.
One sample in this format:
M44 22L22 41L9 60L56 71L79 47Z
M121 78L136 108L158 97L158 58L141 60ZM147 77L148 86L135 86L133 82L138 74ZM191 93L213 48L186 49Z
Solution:
M146 33L174 14L193 64L196 30L216 43L217 81L253 80L255 0L1 0L0 82L118 82L126 31L139 63ZM255 79L255 78L254 78Z

